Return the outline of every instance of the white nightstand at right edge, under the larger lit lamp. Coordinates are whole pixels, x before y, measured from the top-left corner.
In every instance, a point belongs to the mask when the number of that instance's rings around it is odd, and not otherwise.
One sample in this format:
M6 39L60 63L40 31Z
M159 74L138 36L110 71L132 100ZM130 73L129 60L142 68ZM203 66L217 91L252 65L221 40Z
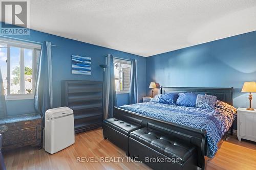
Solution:
M256 141L256 110L238 108L238 140Z

